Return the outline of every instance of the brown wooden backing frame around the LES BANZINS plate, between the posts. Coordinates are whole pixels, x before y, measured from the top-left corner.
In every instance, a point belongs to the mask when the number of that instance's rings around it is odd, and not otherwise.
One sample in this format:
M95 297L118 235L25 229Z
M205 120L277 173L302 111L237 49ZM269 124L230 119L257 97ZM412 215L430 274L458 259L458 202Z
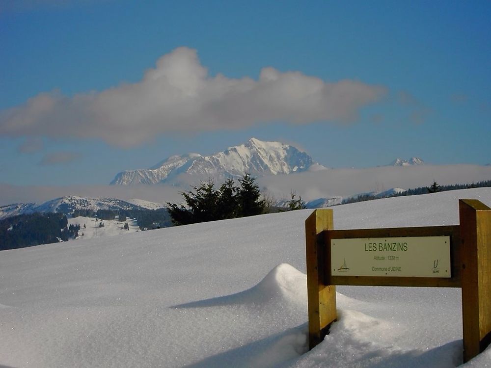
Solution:
M325 263L326 279L328 285L353 286L401 286L401 287L438 287L460 288L462 286L461 272L461 241L460 227L454 226L428 226L411 228L386 229L354 229L354 230L328 230L324 231L324 243L330 247L332 239L346 238L374 238L374 237L450 237L451 278L426 277L379 277L379 276L331 276L329 249Z

